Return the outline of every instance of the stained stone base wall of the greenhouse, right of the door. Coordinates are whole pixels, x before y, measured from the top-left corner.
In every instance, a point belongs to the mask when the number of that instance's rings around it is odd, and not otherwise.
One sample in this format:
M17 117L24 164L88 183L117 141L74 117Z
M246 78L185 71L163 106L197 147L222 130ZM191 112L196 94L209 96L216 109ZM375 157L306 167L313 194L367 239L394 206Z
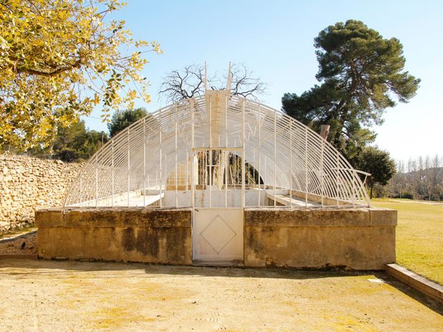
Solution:
M397 211L244 211L244 265L382 270L395 261Z

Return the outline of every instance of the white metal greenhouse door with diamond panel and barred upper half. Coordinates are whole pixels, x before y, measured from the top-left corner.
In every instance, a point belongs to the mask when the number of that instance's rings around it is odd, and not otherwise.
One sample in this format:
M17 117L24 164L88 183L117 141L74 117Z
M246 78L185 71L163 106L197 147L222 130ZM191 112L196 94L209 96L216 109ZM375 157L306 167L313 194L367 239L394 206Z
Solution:
M192 172L193 259L243 261L244 176L236 148L195 149ZM240 168L237 169L237 168Z

